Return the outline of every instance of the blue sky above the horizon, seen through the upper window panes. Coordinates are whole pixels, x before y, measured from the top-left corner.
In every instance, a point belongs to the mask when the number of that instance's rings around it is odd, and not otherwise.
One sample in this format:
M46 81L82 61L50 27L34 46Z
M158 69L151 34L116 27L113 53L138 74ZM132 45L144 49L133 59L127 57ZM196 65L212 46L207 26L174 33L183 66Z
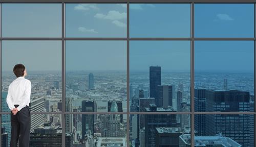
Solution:
M195 37L253 37L253 8L253 4L195 4ZM126 37L126 13L126 4L66 4L66 36ZM3 4L2 19L3 37L61 37L61 4ZM189 4L130 4L130 37L189 36ZM38 70L35 63L44 70L61 67L58 41L2 43L3 70L12 70L17 63L31 70ZM15 52L20 57L10 60ZM36 53L47 60L34 57ZM126 41L67 41L66 54L67 69L126 69ZM131 70L147 70L150 65L189 70L190 42L130 41L130 65ZM209 67L252 71L253 42L196 41L195 69Z

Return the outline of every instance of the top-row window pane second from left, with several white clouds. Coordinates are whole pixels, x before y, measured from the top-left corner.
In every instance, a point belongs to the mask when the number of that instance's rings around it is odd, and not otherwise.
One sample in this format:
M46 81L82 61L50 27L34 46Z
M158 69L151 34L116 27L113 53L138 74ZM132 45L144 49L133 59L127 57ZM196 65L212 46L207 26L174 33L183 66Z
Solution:
M126 4L66 4L66 37L126 37L126 17Z

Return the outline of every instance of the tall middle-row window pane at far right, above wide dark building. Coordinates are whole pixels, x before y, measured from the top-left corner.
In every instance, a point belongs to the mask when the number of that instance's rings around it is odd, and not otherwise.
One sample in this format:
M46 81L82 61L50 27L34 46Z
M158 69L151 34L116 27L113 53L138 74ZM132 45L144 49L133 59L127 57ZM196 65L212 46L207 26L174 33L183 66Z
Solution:
M254 111L253 41L195 42L195 111Z

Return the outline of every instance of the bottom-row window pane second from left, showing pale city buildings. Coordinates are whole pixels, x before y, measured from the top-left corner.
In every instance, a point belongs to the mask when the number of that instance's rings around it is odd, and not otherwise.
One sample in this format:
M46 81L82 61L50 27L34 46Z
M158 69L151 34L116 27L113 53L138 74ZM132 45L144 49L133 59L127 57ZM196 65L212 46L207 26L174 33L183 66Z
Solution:
M123 114L68 114L66 146L128 146L126 118Z

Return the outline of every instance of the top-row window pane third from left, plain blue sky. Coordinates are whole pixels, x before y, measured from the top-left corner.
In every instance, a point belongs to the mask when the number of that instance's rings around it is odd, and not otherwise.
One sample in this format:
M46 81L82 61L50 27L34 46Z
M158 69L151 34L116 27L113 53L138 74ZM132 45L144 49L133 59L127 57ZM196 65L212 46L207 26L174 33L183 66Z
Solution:
M131 37L190 37L190 4L130 4Z

